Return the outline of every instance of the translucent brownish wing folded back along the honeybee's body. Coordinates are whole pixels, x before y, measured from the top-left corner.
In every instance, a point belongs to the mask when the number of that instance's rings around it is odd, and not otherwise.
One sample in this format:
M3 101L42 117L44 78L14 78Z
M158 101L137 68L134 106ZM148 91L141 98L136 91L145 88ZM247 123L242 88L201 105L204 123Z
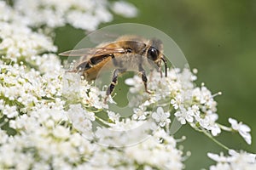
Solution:
M84 56L84 55L102 55L102 54L124 54L125 48L81 48L63 52L62 56Z

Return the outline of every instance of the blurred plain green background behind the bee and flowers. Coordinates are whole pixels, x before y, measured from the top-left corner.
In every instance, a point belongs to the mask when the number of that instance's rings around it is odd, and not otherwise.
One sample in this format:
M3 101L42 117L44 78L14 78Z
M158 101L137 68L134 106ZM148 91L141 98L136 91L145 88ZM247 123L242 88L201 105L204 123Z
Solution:
M228 118L252 128L253 144L247 145L238 133L221 133L219 141L236 150L256 152L256 1L137 1L129 0L139 10L137 18L115 16L108 26L136 22L164 31L177 42L189 61L197 68L197 84L205 82L212 94L221 91L218 101L218 122L229 125ZM60 51L73 48L84 37L83 31L59 28L55 42ZM207 168L214 161L207 152L224 151L202 133L189 126L182 127L175 138L185 135L183 151L192 155L185 161L186 169Z

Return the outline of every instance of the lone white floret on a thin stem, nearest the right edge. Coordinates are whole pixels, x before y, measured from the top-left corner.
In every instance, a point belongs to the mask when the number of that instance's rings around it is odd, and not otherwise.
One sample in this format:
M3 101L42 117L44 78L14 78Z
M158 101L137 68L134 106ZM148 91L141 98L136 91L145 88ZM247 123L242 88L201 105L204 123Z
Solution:
M242 122L237 122L236 119L229 118L229 122L231 124L232 129L238 131L243 139L247 142L247 144L252 144L252 136L250 134L251 128Z

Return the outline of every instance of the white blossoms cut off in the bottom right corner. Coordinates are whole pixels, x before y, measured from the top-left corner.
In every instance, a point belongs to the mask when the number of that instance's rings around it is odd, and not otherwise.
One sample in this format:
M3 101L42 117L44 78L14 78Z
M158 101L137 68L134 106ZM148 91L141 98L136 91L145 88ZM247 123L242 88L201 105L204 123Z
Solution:
M220 156L212 153L207 155L214 161L217 161L216 165L212 165L210 170L232 170L232 169L256 169L256 155L247 153L245 151L236 152L235 150L229 150L230 156L224 156L223 153Z

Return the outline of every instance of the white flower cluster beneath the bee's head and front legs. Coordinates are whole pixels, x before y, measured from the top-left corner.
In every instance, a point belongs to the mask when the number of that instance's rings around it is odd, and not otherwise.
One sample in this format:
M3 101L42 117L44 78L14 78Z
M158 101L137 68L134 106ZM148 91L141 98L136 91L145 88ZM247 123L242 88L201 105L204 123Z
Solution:
M134 101L140 99L142 104L139 108L155 105L156 103L164 105L177 117L181 124L189 122L194 127L204 128L216 136L220 133L220 127L216 123L218 114L216 113L216 101L214 101L211 92L206 87L198 88L194 81L196 77L189 69L171 69L168 71L167 78L161 78L159 72L154 71L149 78L148 88L154 91L150 99L147 94L141 95L143 85L140 77L127 79L126 83L130 86L130 92L137 94ZM136 105L135 102L132 105ZM160 108L152 115L160 126L165 126L166 122L171 122L170 113L164 114Z

